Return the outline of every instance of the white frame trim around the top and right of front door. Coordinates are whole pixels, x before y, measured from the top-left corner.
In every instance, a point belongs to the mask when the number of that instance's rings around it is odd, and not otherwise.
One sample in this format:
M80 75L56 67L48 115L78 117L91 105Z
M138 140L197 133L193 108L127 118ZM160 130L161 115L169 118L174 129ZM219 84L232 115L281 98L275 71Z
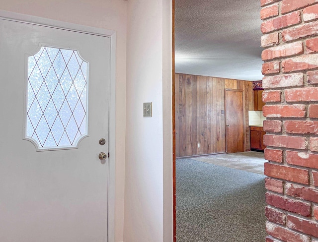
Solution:
M53 19L0 10L0 19L70 30L110 38L110 88L109 88L109 159L108 159L108 242L115 241L115 92L116 92L116 32Z

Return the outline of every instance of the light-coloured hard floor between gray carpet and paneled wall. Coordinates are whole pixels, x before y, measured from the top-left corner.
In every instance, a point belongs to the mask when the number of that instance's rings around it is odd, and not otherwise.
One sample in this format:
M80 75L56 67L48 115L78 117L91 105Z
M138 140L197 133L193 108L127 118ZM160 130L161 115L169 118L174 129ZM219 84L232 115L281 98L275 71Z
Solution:
M264 174L264 163L266 162L264 153L257 151L208 155L191 159L262 175Z

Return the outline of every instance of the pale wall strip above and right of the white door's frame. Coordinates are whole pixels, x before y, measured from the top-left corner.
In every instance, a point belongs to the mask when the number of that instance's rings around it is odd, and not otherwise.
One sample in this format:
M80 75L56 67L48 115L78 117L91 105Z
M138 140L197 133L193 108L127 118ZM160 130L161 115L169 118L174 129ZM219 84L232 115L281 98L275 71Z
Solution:
M124 0L3 0L0 9L116 31L115 242L123 241L126 105Z

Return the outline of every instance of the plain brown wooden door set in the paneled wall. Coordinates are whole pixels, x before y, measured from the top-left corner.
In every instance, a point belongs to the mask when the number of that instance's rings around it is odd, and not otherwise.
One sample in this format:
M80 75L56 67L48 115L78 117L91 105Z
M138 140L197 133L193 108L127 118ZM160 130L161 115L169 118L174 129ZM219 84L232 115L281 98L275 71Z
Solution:
M244 151L243 91L225 90L226 151Z

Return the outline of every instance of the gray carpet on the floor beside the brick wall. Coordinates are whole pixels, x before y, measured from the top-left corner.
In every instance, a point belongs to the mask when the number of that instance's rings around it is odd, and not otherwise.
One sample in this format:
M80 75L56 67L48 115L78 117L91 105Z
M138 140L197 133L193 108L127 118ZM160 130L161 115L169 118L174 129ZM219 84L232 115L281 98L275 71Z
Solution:
M177 242L264 242L265 176L176 160Z

